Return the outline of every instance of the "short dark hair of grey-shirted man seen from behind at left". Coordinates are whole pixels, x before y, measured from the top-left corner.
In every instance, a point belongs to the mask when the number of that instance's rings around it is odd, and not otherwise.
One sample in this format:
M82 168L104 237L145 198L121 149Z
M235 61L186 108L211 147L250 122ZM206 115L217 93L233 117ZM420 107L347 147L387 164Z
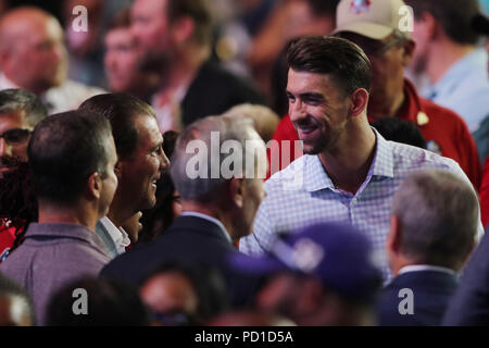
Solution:
M42 120L28 145L36 195L52 203L74 203L95 172L106 177L110 123L97 113L70 111Z

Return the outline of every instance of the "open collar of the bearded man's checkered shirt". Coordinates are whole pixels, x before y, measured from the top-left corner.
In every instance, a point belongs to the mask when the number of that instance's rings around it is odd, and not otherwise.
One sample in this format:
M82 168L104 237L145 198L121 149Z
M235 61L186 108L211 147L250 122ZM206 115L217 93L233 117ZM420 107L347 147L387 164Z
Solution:
M375 129L376 136L375 157L365 179L368 183L372 177L393 177L393 152L390 144ZM318 156L305 154L304 187L309 192L326 188L335 188L333 181L326 173Z

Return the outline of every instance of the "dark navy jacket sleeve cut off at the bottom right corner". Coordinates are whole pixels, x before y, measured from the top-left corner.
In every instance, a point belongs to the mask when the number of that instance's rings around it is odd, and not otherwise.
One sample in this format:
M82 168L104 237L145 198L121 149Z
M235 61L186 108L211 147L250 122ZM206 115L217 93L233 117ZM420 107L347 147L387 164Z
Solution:
M443 325L489 325L489 229L465 266Z

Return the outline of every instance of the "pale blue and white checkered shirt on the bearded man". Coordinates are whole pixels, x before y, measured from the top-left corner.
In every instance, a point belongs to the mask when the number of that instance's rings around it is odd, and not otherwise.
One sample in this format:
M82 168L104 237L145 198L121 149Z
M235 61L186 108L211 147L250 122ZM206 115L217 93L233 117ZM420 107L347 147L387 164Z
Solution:
M260 256L271 248L277 233L293 233L319 222L350 223L371 239L376 264L388 281L391 272L385 246L392 196L408 174L446 169L471 182L453 160L375 134L375 158L356 195L335 188L317 156L303 156L273 175L265 183L267 196L256 212L254 232L240 240L240 251ZM479 229L484 233L481 224Z

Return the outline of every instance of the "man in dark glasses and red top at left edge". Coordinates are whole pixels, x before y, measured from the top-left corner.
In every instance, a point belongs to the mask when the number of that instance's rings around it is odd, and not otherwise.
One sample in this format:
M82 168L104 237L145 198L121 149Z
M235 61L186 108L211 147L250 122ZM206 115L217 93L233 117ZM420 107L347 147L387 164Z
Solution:
M16 175L13 172L18 163L27 162L30 134L47 115L48 111L34 94L22 89L0 91L0 181L2 184L7 183L4 176L8 173ZM5 190L2 189L2 194L4 192ZM10 201L9 204L13 202ZM7 225L11 217L16 216L7 217L7 208L0 207L0 262L9 253L15 240L15 228L9 228Z

